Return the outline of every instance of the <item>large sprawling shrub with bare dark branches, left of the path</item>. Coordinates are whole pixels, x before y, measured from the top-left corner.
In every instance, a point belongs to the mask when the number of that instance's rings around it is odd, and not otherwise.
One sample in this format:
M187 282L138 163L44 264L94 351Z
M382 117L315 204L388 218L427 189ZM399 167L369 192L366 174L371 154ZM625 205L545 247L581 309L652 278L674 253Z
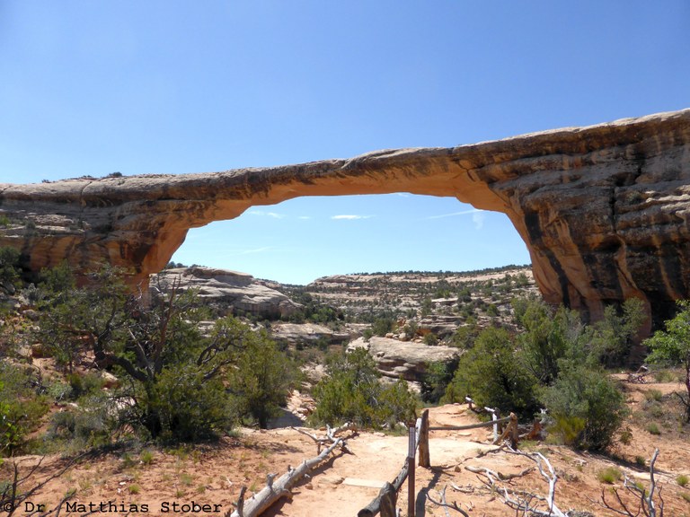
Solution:
M44 278L49 311L41 336L66 353L70 366L88 348L99 367L113 370L122 381L113 408L121 428L145 438L193 441L225 432L243 411L264 422L285 398L276 346L231 317L202 335L206 312L176 279L159 280L145 300L112 267L91 274L81 288L66 266ZM75 396L96 382L74 374L69 381Z

